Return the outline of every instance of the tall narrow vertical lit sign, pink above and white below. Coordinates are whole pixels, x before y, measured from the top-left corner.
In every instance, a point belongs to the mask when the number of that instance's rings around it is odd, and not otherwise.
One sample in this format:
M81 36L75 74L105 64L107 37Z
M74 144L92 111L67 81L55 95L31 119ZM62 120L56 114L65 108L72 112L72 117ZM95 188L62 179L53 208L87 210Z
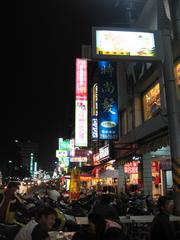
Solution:
M87 60L76 59L75 146L88 145Z

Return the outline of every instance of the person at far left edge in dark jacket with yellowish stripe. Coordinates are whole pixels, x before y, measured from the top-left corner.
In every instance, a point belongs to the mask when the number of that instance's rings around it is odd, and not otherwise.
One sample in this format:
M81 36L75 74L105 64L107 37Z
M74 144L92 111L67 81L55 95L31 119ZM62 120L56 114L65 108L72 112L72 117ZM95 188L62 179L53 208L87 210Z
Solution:
M18 182L9 182L6 190L0 194L0 222L13 223L15 212L23 209L23 204L16 196L18 189Z

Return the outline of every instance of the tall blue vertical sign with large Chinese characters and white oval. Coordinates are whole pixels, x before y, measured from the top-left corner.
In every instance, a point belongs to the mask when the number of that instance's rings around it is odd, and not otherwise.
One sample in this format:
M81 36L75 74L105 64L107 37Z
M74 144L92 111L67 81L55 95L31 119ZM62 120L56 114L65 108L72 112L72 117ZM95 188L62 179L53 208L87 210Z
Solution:
M118 139L116 65L100 61L98 72L99 139Z

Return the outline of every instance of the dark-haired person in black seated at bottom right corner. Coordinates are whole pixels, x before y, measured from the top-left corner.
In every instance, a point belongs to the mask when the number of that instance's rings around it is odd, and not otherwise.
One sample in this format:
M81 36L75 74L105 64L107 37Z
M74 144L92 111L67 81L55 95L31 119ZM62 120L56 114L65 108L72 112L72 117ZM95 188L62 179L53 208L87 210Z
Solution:
M152 222L150 239L151 240L174 240L175 229L173 223L169 220L169 215L173 211L172 201L165 196L161 196L157 202L159 214Z

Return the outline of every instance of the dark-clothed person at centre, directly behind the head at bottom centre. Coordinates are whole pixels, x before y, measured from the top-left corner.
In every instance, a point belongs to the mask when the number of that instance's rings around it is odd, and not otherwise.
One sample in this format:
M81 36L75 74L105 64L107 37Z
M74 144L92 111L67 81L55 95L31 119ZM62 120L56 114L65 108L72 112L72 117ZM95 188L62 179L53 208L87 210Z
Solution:
M100 196L100 201L97 201L95 205L90 210L90 213L95 213L102 217L102 219L117 219L118 212L117 210L110 205L111 203L111 195L110 194L102 194Z

